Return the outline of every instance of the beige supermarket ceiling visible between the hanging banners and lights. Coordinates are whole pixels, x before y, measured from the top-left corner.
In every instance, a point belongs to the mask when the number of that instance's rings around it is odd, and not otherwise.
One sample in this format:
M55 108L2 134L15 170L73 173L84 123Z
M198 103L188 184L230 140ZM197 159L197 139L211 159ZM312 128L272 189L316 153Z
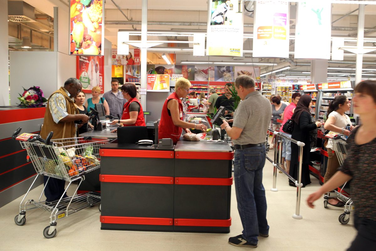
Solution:
M41 10L47 15L53 17L53 6L67 8L68 0L24 0L33 7ZM111 41L112 47L117 47L118 30L141 30L141 0L105 0L105 38ZM290 2L290 5L296 5ZM358 23L358 5L357 4L332 4L332 37L349 37L353 41L347 41L345 45L356 45L357 23ZM121 11L119 10L121 9ZM148 30L163 32L203 32L206 33L206 22L208 20L208 4L204 0L176 1L176 0L149 0L148 1ZM290 15L290 34L294 35L295 19ZM244 33L251 35L253 33L253 18L244 16ZM376 45L376 5L365 6L365 38L371 38L365 46ZM252 37L252 36L251 36ZM140 36L132 36L130 40L139 40ZM188 37L166 36L148 36L149 40L188 40ZM351 39L350 39L351 40ZM373 41L375 40L375 41ZM161 47L168 47L169 44L162 44ZM180 47L188 47L188 44L176 44ZM192 44L191 44L192 46ZM244 38L244 50L252 50L252 38ZM290 51L294 51L294 40L290 40ZM166 50L168 52L168 50ZM192 52L180 51L177 54L192 54ZM364 57L364 62L376 64L376 54ZM252 57L251 53L245 55ZM293 55L290 55L293 58ZM274 59L262 59L264 62ZM349 67L354 64L355 56L345 56L344 61L350 64L333 64L332 67ZM278 66L289 64L280 62ZM179 62L177 62L179 63ZM368 67L370 67L368 65ZM302 68L307 71L309 67L297 65L294 68ZM266 68L265 68L266 69ZM265 70L264 69L264 70Z

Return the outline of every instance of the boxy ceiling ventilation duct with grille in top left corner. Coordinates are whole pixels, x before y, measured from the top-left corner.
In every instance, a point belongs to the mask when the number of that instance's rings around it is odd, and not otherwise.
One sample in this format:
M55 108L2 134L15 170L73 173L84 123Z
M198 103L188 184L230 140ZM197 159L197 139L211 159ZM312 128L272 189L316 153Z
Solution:
M34 7L22 1L9 1L8 20L22 23L36 22Z

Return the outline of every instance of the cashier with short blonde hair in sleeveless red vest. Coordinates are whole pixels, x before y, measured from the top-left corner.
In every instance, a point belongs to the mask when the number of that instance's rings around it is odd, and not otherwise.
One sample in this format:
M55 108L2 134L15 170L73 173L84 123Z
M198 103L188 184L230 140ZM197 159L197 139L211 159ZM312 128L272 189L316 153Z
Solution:
M187 96L190 87L191 83L188 79L178 78L176 80L175 92L167 97L162 108L158 139L171 138L174 145L176 145L183 128L200 129L206 132L206 126L204 124L183 121L183 104L180 98ZM185 130L189 132L189 129Z

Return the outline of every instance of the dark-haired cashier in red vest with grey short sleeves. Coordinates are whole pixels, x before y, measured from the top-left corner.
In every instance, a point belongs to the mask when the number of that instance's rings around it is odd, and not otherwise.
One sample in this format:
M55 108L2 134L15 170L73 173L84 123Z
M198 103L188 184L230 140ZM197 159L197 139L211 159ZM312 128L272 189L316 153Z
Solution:
M110 125L119 123L123 124L123 126L146 126L141 103L136 98L136 85L127 83L122 85L121 93L123 94L124 99L128 100L128 102L124 104L123 116L121 116L121 119L112 121ZM117 132L117 129L112 130L111 132Z

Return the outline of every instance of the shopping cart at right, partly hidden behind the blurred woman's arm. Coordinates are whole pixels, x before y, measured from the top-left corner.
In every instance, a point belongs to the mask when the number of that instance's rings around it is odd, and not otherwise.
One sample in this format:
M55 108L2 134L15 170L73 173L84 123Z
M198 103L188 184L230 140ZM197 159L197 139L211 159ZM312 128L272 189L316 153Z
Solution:
M331 138L330 135L326 135L325 137L328 138L328 140L332 141L333 150L335 151L338 162L340 163L340 166L343 164L344 160L347 156L347 149L346 149L346 137L342 134L336 135ZM346 182L347 183L347 182ZM324 207L327 207L328 199L329 198L338 198L341 201L345 203L344 213L340 215L338 218L338 221L340 221L341 224L347 224L350 221L350 211L354 210L353 201L351 198L347 197L347 193L343 191L343 188L346 186L346 183L341 187L341 190L338 192L337 190L334 190L334 192L329 192L324 195Z

